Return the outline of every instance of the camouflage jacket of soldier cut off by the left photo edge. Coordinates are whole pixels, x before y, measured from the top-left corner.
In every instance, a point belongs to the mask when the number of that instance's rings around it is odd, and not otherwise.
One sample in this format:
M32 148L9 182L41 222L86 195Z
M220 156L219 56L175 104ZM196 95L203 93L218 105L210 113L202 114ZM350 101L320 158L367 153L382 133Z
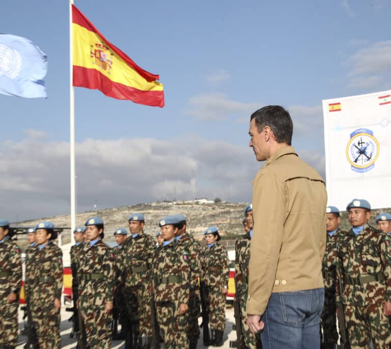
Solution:
M19 295L22 282L20 248L8 237L0 244L0 297Z

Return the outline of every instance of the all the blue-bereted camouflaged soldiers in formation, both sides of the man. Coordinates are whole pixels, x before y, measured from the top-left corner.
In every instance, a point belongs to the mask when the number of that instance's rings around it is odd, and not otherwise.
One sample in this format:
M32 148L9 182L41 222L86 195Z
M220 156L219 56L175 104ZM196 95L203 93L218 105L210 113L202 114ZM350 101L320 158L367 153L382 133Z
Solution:
M353 199L346 210L352 228L342 231L338 208L326 208L321 345L335 348L340 340L343 347L367 348L372 342L375 348L388 348L391 214L380 213L375 229L368 224L371 206L367 200ZM78 347L110 347L112 325L118 320L121 332L114 338L125 339L126 348L154 348L161 341L166 348L195 348L200 337L200 315L204 345L222 345L229 269L216 227L205 231L207 246L200 248L186 233L183 215L161 219L157 241L143 234L142 214L133 214L128 222L129 236L123 228L114 232L118 243L114 249L103 243L104 226L99 217L74 231L71 264ZM243 225L246 234L235 244L236 345L262 348L259 334L254 335L246 324L251 205L244 210ZM51 243L56 238L53 228L51 223L42 222L27 234L31 246L26 250L25 286L35 334L30 342L39 348L60 347L62 252ZM0 279L0 347L13 348L17 338L20 249L8 236L8 222L2 220Z

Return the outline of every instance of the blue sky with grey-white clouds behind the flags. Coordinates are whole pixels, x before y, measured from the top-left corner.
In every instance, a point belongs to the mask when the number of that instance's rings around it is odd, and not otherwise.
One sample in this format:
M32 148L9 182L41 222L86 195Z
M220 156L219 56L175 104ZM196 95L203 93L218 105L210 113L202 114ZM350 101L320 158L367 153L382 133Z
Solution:
M139 66L165 107L75 89L77 208L216 196L250 201L248 119L281 104L293 146L324 176L322 99L391 89L390 1L127 1L75 5ZM23 11L21 11L21 9ZM0 32L48 56L47 99L0 95L0 213L69 212L66 0L2 4Z

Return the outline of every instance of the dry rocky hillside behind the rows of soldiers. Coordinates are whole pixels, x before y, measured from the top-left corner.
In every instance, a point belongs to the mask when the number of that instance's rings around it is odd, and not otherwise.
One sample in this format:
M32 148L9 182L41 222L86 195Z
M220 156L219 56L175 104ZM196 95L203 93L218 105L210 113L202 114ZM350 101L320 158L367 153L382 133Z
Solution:
M143 213L146 219L144 231L152 236L156 235L159 230L158 221L160 218L182 213L187 219L187 231L196 239L202 240L204 231L211 225L217 226L221 233L222 239L235 239L237 235L244 234L243 230L243 212L248 202L216 202L212 200L200 199L193 201L157 201L149 203L140 203L134 206L123 206L111 209L102 209L98 211L82 212L76 216L76 226L83 226L88 218L99 216L104 221L105 241L115 241L113 233L117 228L128 228L128 217L132 213ZM375 217L381 211L373 210L370 224L376 227ZM347 213L342 212L341 228L350 229L347 219ZM311 219L309 217L308 219ZM36 226L38 222L48 220L57 227L69 227L70 215L45 217L30 221L14 223L21 226ZM25 237L19 237L18 244L22 249L26 245ZM70 242L70 231L64 231L62 234L62 243Z

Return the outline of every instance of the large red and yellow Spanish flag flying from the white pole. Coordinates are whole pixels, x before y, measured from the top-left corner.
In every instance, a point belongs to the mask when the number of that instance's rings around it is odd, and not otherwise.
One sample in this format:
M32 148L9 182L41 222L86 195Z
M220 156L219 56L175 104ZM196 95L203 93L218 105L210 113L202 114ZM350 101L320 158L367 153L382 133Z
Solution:
M72 5L73 86L138 104L164 106L163 85L111 44Z

